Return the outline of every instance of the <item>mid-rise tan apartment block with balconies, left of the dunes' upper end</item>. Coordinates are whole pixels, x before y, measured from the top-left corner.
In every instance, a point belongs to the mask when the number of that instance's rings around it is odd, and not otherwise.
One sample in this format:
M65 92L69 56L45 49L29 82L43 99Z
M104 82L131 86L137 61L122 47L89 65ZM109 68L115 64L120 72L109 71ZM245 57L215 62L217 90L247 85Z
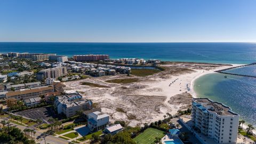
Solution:
M66 67L55 67L55 68L49 68L49 69L43 69L40 70L36 74L36 79L38 80L43 80L45 78L58 78L61 76L65 76L68 74L67 68Z

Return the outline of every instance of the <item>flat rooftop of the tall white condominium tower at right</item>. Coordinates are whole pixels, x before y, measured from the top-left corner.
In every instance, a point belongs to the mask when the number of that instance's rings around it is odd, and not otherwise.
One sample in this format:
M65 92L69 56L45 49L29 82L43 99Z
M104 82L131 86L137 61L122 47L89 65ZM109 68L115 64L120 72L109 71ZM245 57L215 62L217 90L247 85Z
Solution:
M197 107L201 107L201 109L212 111L213 113L217 113L220 116L235 116L238 115L231 111L231 108L224 105L223 103L212 101L208 98L195 98L193 102L200 103L200 105L196 105Z

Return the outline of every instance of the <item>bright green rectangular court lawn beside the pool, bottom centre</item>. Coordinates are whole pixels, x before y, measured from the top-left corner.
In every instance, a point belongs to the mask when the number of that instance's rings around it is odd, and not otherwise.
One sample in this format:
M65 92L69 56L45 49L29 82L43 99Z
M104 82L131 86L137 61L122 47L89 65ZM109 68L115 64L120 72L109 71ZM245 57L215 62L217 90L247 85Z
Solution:
M165 135L165 132L149 127L147 130L139 134L133 140L136 143L154 143L156 137L159 137L162 139L164 135Z

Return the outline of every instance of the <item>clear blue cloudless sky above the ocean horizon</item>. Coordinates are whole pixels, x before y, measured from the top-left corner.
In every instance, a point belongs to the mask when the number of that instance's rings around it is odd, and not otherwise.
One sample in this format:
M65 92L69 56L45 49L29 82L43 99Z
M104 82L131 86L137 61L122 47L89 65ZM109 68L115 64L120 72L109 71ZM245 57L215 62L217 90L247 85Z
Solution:
M256 1L1 0L0 42L256 42Z

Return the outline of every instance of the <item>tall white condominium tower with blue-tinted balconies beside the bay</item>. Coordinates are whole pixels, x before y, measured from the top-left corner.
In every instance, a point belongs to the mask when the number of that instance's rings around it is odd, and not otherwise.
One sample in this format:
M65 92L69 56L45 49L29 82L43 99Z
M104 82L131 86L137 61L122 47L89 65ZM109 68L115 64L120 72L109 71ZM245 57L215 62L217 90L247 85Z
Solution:
M191 120L196 129L217 143L236 143L239 115L207 98L192 101Z

